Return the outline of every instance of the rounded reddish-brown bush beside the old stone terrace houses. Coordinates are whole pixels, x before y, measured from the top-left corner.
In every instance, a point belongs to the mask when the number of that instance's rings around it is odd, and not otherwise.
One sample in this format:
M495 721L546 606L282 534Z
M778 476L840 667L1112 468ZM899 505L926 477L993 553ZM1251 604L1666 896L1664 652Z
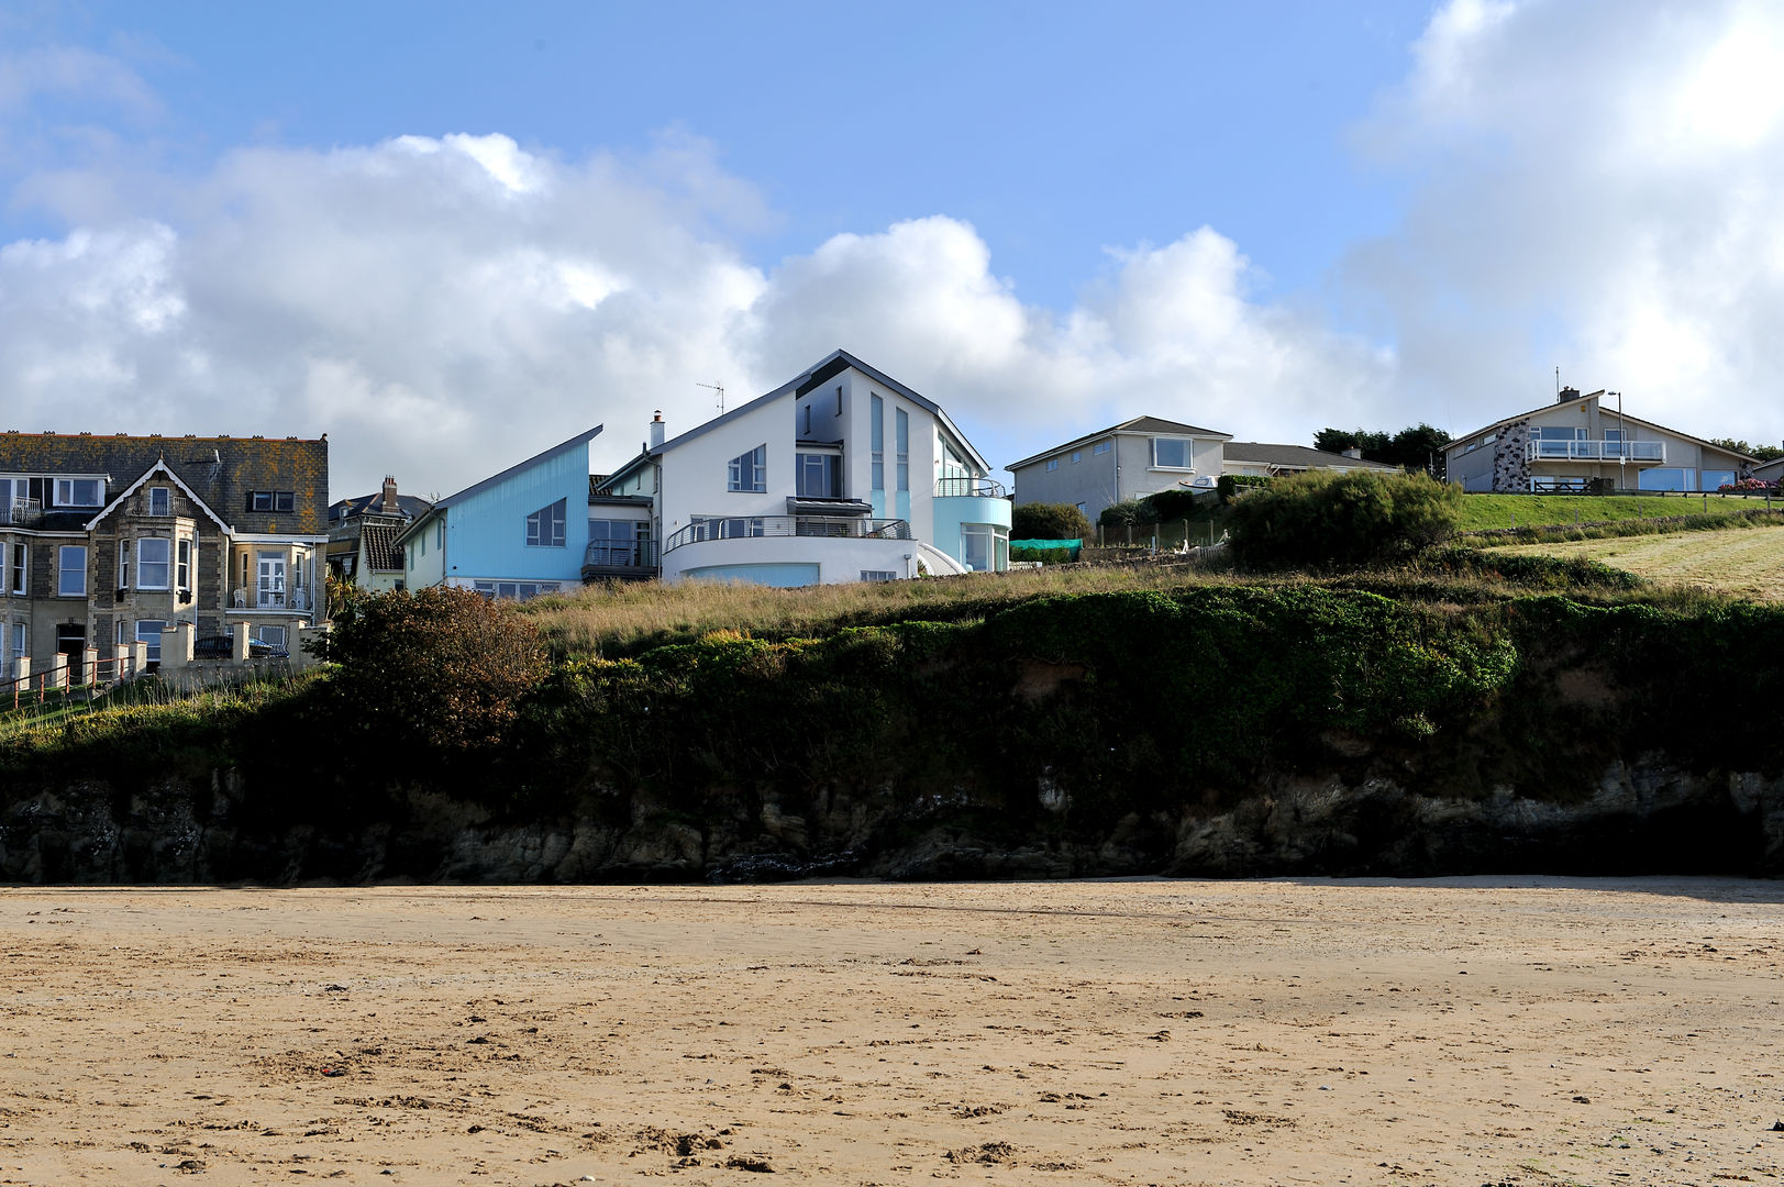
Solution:
M498 743L546 675L533 621L469 589L355 591L343 598L330 634L346 719L392 746Z

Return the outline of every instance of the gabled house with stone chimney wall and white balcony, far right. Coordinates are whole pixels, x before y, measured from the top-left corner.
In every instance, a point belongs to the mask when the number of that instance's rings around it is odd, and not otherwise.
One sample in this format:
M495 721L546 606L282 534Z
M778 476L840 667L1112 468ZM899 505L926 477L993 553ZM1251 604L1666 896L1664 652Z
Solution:
M1604 407L1604 398L1616 403ZM1465 491L1714 491L1754 466L1622 409L1618 393L1563 387L1554 403L1463 434L1443 453Z

